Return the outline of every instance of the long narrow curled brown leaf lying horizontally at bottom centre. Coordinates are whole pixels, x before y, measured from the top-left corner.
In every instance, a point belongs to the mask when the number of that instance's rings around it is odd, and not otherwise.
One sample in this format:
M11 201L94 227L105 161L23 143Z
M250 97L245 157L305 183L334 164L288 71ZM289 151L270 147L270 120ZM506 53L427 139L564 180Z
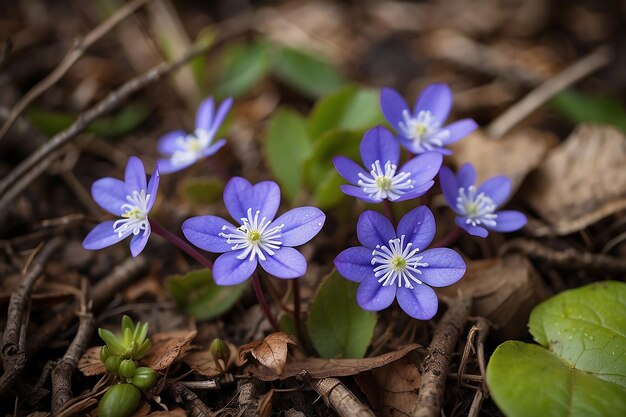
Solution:
M251 366L248 370L254 376L264 381L291 378L297 376L303 370L306 370L313 379L351 376L384 366L420 348L424 349L421 345L411 344L394 352L362 359L307 358L303 361L288 363L280 377L262 366Z

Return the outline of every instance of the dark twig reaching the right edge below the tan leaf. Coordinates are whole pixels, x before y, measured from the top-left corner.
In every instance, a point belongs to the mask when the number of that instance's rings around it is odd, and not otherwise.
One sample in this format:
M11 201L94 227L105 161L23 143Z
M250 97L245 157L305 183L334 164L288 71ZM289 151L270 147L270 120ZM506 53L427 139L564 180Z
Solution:
M626 272L626 259L600 253L579 252L575 249L556 250L530 239L513 239L500 248L499 253L522 252L563 269L584 269L601 272Z

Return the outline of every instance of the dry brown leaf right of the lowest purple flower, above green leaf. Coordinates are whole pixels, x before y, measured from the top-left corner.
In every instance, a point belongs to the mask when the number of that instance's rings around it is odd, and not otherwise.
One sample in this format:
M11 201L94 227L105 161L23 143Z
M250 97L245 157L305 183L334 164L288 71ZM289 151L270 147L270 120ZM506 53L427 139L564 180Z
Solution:
M523 336L530 311L550 296L528 259L519 254L470 262L462 280L436 290L451 298L472 297L474 314L492 322L495 330L490 335L500 340Z

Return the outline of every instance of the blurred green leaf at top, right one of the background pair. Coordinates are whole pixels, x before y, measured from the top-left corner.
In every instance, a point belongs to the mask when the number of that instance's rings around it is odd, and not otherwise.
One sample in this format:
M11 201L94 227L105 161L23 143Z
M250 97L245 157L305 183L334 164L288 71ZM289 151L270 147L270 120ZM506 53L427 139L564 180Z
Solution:
M324 59L296 49L279 51L275 71L282 81L312 98L345 84L343 77Z

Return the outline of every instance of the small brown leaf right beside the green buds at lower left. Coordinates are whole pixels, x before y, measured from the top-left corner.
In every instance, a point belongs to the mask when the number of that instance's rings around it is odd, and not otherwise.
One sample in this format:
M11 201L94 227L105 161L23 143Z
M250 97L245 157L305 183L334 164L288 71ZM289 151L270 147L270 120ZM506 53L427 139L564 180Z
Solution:
M162 371L187 350L196 334L195 330L182 330L151 336L152 349L141 362L155 371Z

